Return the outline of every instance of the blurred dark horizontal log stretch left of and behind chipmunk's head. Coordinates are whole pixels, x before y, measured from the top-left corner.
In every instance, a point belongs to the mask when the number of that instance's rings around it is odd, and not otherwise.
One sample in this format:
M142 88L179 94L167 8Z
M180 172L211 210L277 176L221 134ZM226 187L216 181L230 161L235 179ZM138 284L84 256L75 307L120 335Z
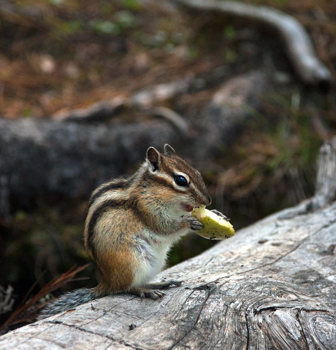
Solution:
M5 203L33 198L83 197L98 184L142 161L149 145L181 135L164 120L120 125L0 119L0 194ZM33 199L34 200L34 199Z

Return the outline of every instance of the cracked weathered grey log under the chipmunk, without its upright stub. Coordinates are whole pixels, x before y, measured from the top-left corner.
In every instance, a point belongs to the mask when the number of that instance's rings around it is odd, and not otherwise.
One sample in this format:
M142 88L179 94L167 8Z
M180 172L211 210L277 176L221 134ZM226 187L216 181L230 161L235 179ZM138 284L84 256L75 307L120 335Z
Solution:
M161 301L104 297L0 337L0 349L336 349L336 203L287 209L158 276Z

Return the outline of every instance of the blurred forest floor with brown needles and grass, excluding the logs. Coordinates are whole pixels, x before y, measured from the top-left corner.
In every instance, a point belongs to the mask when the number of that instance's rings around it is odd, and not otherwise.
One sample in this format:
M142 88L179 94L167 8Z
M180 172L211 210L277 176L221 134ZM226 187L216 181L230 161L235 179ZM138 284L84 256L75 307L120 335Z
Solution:
M246 3L271 6L298 19L335 79L335 0ZM100 101L118 105L158 84L187 81L188 87L154 99L152 107L164 107L168 118L177 113L175 124L193 123L199 116L206 123L205 111L221 88L236 77L244 86L251 71L263 72L263 88L251 89L253 103L243 109L248 118L236 123L231 139L212 157L200 161L197 153L185 152L183 143L171 145L200 170L213 198L211 209L231 218L235 229L313 195L319 147L336 129L333 84L300 80L271 28L216 11L159 0L0 1L3 119L61 121ZM157 121L144 104L124 106L111 118L119 124ZM125 173L132 174L144 157L145 151ZM87 262L82 240L87 200L35 198L34 205L14 203L10 215L1 217L0 285L13 286L17 301L44 271L40 286L73 264ZM171 252L169 265L214 243L185 237ZM90 279L67 288L94 286L98 279L93 265L80 276Z

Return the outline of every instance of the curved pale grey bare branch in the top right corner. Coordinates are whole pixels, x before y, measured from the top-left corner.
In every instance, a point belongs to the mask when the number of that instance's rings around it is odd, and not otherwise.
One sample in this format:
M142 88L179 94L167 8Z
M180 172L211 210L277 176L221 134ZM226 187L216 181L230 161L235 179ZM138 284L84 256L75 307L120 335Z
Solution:
M260 21L275 28L282 36L287 54L300 78L309 84L333 80L329 69L317 58L307 31L294 17L267 6L239 1L175 0L201 10L218 10L231 16Z

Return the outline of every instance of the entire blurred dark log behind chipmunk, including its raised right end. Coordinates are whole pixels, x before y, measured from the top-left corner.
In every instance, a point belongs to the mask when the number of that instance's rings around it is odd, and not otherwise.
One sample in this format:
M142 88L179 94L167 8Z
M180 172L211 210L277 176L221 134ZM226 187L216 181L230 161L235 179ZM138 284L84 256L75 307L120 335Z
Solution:
M252 113L246 106L255 107L266 81L262 72L228 80L194 121L162 108L153 111L164 118L130 124L0 119L0 214L8 215L13 203L29 206L37 198L88 197L99 184L142 162L149 146L162 149L169 143L183 157L213 159L240 132Z

